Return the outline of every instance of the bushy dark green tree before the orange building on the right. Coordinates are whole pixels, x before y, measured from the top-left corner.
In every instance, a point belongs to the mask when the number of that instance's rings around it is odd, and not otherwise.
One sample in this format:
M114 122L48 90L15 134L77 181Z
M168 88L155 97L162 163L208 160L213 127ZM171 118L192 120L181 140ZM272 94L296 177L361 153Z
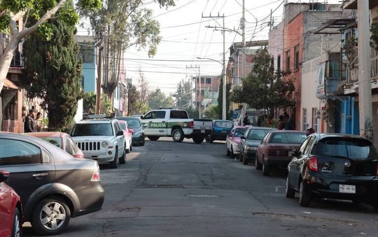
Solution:
M242 82L242 87L233 89L231 100L248 103L254 109L295 106L294 78L283 79L283 72L275 72L273 58L266 47L257 50L253 69Z

